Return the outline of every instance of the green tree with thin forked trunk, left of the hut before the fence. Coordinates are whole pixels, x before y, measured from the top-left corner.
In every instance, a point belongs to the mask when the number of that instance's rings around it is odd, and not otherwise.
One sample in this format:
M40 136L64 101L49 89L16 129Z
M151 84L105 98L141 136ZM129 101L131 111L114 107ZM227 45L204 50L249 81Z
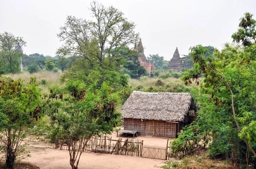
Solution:
M61 132L59 137L69 145L71 168L78 169L83 151L78 151L77 141L79 147L84 149L92 136L110 134L119 122L120 113L116 112L116 105L120 98L113 93L108 82L95 90L94 86L85 89L81 81L68 81L65 88L70 96L50 103L52 111L49 113ZM59 91L63 90L51 89L50 97L56 98Z

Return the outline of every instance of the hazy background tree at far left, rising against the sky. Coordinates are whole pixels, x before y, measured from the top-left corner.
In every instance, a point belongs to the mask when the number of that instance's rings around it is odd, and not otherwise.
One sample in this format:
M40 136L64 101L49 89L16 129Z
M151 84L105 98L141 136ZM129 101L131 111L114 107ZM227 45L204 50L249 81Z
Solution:
M3 73L20 72L20 56L22 47L26 42L22 37L15 37L13 34L4 32L0 34L0 59L3 63Z

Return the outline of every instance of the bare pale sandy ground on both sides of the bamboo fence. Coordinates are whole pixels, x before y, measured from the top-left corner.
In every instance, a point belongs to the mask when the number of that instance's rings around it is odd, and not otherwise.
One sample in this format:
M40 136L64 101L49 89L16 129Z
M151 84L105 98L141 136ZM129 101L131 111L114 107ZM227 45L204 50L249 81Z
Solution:
M119 138L127 138L119 134ZM116 132L112 139L116 139ZM167 138L139 136L144 145L166 146ZM44 143L35 138L28 138L28 150L31 157L23 162L29 162L41 169L70 169L69 153L67 150L55 149L54 144ZM132 157L127 155L110 155L83 153L79 161L79 169L157 169L164 165L164 160Z

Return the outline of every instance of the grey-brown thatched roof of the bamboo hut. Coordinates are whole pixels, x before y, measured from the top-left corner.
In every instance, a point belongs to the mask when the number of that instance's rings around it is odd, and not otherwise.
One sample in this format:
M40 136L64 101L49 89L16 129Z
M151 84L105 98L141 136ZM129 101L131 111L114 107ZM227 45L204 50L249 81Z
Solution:
M145 93L134 91L122 106L123 118L183 121L195 110L189 93Z

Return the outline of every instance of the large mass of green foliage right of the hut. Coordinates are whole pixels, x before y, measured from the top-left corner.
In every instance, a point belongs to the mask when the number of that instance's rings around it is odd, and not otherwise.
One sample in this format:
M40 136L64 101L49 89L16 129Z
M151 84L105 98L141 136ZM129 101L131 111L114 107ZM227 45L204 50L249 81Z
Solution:
M256 127L255 49L255 44L241 50L226 44L222 51L217 50L213 56L206 56L207 50L203 46L197 45L191 48L195 66L193 70L187 70L182 80L186 84L191 84L192 80L195 80L199 85L200 76L204 76L201 94L197 98L200 110L192 126L187 127L186 132L181 133L172 143L175 149L185 145L183 149L192 151L198 147L193 145L196 143L195 137L201 137L200 140L212 136L213 140L207 152L210 157L228 157L230 154L236 154L240 159L234 159L234 162L239 160L243 162L245 156L240 150L247 151L250 146L252 149L249 156L254 154L253 149L256 149L256 135L253 132ZM194 135L195 131L197 131L196 135ZM253 159L250 158L250 161Z

